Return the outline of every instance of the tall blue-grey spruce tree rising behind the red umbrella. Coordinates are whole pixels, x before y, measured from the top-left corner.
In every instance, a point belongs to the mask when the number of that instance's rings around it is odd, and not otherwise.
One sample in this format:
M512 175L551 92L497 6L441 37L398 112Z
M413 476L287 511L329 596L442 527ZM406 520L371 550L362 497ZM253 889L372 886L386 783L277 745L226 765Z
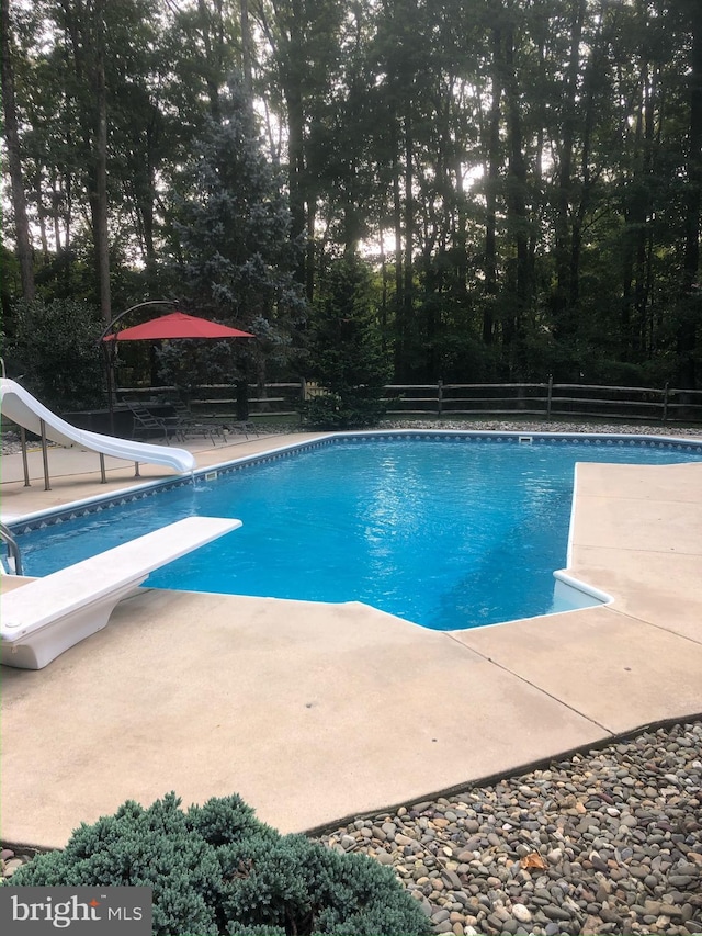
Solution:
M236 82L220 108L222 122L208 123L186 173L190 193L178 203L178 273L200 308L264 336L280 357L306 318L295 281L303 244L291 238L282 180Z

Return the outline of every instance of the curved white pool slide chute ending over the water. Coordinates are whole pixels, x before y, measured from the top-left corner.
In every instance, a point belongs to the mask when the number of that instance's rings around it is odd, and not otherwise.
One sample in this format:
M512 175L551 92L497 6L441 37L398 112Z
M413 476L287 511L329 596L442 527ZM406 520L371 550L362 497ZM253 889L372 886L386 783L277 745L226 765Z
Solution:
M19 383L5 377L2 377L0 383L0 407L3 416L37 436L42 436L43 421L46 438L59 446L80 446L91 452L100 452L115 459L165 465L181 474L193 471L196 464L195 456L186 449L133 442L129 439L78 429L47 409Z

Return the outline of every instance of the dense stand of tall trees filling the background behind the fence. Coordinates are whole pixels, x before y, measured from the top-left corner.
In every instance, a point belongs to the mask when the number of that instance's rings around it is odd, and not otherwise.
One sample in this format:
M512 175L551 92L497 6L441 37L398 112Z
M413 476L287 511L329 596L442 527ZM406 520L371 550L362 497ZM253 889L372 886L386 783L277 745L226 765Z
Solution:
M2 0L2 97L19 361L165 297L259 379L702 386L699 0Z

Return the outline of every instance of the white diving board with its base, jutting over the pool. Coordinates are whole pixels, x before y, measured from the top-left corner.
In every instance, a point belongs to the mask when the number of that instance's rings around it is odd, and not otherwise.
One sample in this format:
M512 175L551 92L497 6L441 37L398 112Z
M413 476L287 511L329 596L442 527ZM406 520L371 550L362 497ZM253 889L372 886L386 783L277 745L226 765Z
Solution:
M240 526L220 517L186 517L0 595L1 662L43 669L104 628L117 602L155 568Z

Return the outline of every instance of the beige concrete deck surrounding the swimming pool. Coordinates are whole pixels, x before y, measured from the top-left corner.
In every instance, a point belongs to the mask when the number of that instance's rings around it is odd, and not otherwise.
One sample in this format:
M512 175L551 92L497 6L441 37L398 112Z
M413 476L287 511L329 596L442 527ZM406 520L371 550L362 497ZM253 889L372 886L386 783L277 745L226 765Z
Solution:
M201 466L307 437L189 446ZM172 476L2 460L3 518ZM336 823L702 712L702 464L581 464L569 572L608 606L463 632L358 602L140 589L38 672L1 667L3 842L60 847L126 799L240 793ZM8 578L8 577L5 577Z

